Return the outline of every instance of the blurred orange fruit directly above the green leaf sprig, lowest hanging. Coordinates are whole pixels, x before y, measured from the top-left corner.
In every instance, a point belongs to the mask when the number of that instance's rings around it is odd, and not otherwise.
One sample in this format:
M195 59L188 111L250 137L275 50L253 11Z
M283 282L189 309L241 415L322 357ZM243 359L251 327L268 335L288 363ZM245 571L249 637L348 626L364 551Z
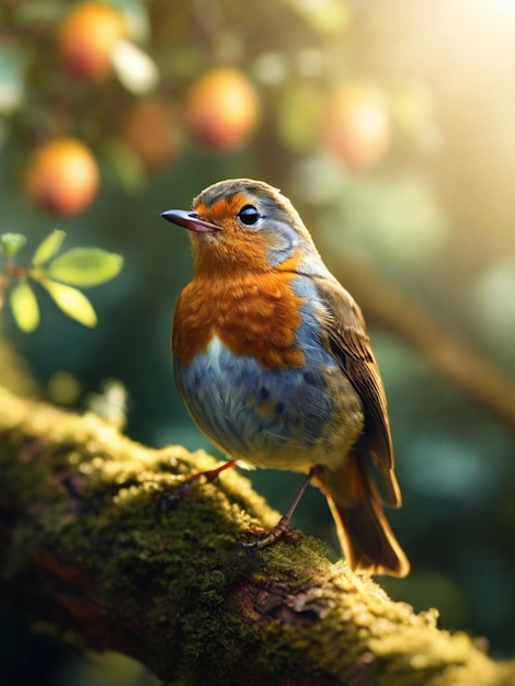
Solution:
M96 195L99 169L80 140L54 138L33 152L23 186L39 209L58 216L73 215Z

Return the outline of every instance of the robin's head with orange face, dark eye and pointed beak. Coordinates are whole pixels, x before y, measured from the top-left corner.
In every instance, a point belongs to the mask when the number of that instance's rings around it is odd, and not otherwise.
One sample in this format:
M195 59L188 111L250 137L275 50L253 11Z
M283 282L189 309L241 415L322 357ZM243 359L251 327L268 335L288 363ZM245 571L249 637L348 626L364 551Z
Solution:
M305 273L320 271L320 256L297 210L261 181L233 179L205 188L192 211L162 217L191 231L195 270L270 271L295 261Z

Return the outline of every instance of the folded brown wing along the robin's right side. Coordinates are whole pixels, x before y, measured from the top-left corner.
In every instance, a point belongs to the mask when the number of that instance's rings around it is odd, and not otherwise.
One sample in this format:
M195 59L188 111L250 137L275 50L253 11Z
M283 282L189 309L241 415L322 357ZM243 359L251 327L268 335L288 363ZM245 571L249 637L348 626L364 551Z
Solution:
M399 507L401 494L393 471L393 449L387 401L365 320L352 296L334 279L316 277L328 308L328 344L359 393L365 426L357 447L373 457L385 487L384 500Z

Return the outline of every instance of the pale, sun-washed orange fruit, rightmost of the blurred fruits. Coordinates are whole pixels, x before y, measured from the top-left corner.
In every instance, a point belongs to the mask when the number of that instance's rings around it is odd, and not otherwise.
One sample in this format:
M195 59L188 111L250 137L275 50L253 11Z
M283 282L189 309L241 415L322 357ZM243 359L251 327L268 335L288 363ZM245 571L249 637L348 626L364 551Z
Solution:
M367 84L332 93L320 127L323 144L351 169L378 162L390 146L390 117L382 92Z

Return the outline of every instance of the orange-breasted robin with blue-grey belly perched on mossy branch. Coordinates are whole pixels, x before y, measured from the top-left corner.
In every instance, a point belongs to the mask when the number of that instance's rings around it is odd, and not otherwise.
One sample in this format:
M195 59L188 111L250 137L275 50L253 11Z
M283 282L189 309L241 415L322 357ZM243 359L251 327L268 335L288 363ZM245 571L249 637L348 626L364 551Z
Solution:
M229 179L191 210L193 278L179 296L171 348L179 391L236 464L306 475L260 549L283 536L308 484L325 495L347 564L405 576L410 563L382 505L399 507L387 400L362 311L331 274L291 202L263 181Z

